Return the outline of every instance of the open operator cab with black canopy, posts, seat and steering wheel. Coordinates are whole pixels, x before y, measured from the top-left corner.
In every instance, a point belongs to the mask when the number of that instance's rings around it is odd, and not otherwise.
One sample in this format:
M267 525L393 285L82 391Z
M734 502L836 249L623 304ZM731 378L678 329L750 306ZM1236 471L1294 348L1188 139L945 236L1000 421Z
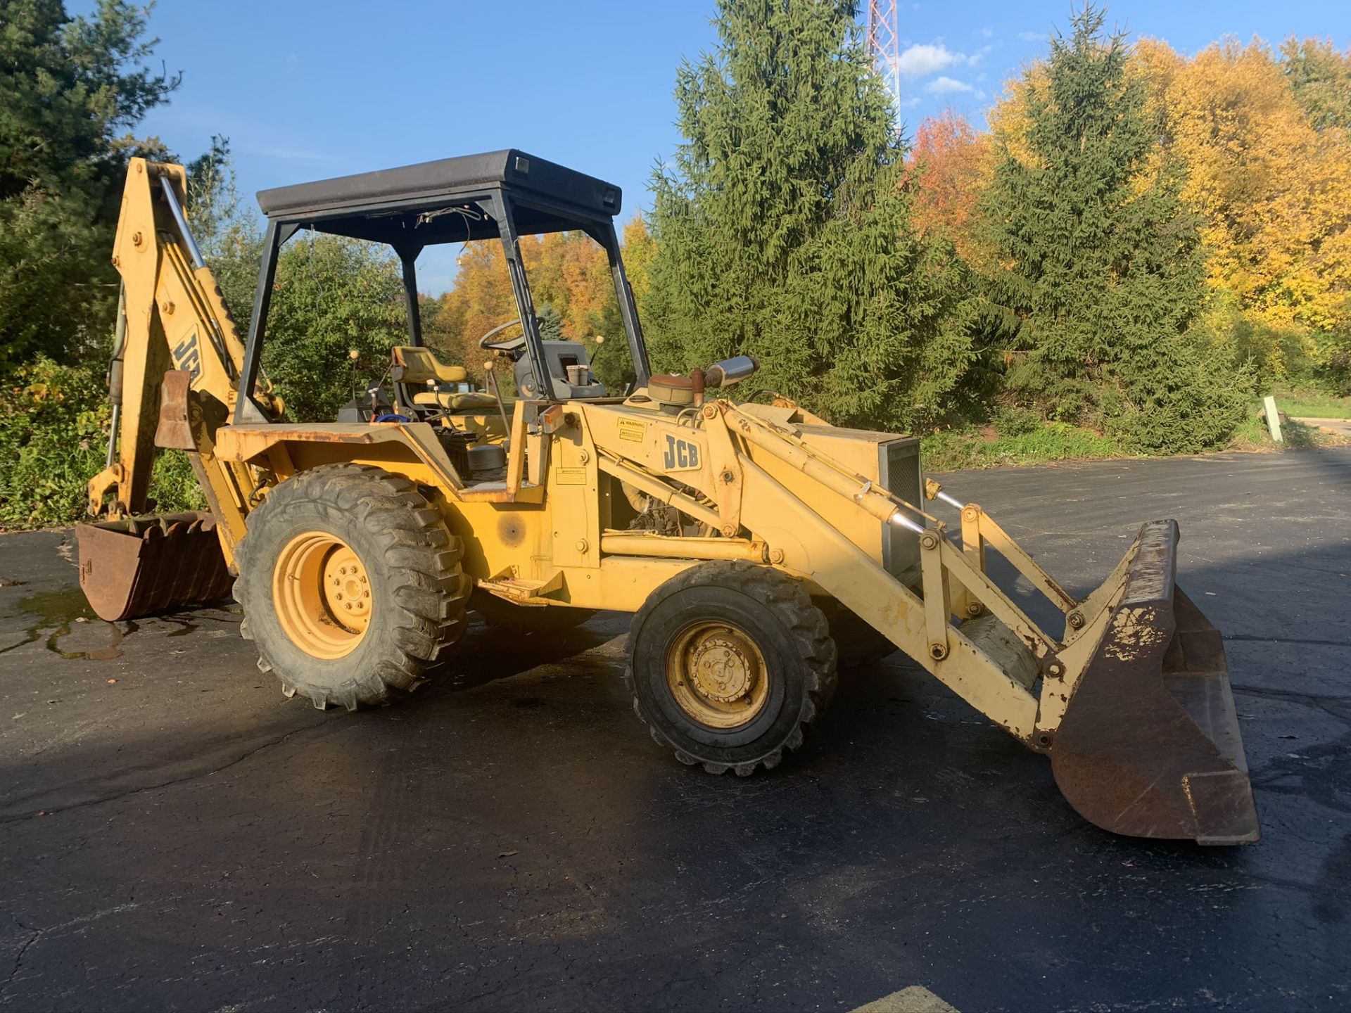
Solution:
M586 344L543 335L520 239L551 232L585 232L604 250L631 363L627 386L632 390L647 385L651 370L613 222L621 192L613 184L511 149L262 190L258 204L267 215L267 231L239 381L243 396L235 407L236 424L270 420L255 398L258 363L266 340L277 257L300 230L384 243L403 269L408 343L392 348L392 396L384 396L377 385L343 409L345 415L357 409L363 421L385 416L440 421L447 416L497 412L505 424L508 398L547 402L613 396L597 381ZM516 317L478 338L480 348L509 363L509 370L500 371L503 382L496 384L499 371L489 374L488 392L461 389L469 382L469 370L439 362L426 347L417 298L416 265L422 251L474 240L501 243L517 311ZM382 416L385 408L389 411Z

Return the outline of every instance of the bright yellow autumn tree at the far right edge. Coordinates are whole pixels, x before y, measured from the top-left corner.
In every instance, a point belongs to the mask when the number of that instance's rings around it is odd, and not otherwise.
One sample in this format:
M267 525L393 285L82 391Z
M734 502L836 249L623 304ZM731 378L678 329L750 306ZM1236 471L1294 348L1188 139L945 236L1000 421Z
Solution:
M1351 143L1315 130L1271 50L1212 45L1192 59L1166 43L1135 51L1186 166L1202 217L1209 282L1223 303L1275 328L1351 321Z

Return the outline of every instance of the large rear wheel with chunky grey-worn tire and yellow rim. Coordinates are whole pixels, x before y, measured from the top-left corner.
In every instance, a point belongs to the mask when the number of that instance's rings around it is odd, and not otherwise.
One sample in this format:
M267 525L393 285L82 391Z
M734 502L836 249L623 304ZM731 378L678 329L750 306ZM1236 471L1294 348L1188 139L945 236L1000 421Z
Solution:
M403 475L301 471L249 515L236 555L259 669L320 709L411 693L465 629L459 540Z

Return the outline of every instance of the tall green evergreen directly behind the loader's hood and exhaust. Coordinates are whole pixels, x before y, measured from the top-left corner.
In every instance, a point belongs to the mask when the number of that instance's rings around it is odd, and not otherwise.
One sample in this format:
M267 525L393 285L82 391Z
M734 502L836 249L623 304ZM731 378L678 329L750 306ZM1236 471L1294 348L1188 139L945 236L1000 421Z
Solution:
M852 0L719 0L681 66L685 142L654 174L654 367L746 353L842 423L939 415L971 358L957 267L911 227L893 108Z

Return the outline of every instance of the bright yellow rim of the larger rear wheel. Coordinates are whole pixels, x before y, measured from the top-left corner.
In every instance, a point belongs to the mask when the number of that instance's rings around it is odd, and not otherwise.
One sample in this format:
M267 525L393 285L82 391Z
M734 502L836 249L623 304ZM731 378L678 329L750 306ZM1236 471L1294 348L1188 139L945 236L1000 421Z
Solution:
M286 543L272 571L272 600L282 632L315 658L351 654L370 625L366 567L327 531L307 531Z

